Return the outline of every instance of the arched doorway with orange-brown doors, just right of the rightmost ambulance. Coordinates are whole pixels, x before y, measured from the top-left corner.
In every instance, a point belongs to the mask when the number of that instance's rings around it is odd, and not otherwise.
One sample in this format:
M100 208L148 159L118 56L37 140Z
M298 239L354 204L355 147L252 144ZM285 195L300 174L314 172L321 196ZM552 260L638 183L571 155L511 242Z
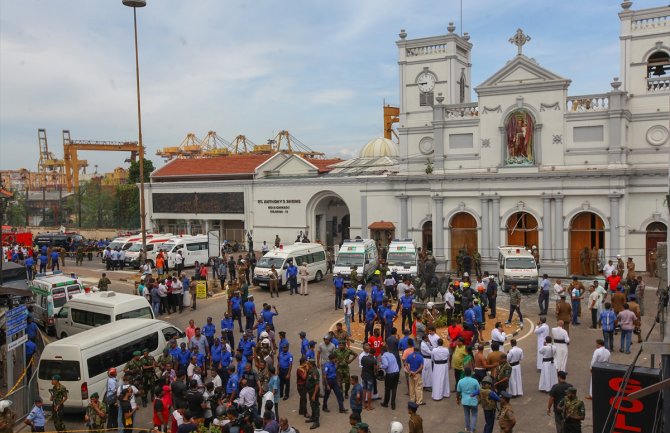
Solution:
M597 254L592 252L594 247ZM603 268L605 223L595 213L580 212L572 218L569 259L570 272L573 274L592 275Z

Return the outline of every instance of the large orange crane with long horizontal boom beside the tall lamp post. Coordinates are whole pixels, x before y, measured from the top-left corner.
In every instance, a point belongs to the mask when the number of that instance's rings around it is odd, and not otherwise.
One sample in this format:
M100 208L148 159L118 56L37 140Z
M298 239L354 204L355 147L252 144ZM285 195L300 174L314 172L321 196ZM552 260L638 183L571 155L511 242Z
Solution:
M140 152L140 146L136 141L72 140L70 138L70 131L64 129L63 159L65 163L65 181L68 191L72 191L73 187L75 190L79 190L79 170L74 169L74 167L82 166L82 161L77 157L77 151L79 150L130 152L130 160L135 162L137 160L137 155Z

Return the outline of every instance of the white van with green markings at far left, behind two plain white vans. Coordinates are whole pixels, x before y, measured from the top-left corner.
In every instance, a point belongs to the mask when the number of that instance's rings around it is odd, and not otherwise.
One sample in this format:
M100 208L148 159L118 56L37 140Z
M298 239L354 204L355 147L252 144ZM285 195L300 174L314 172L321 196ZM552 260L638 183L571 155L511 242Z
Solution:
M35 300L33 305L35 323L44 328L49 335L55 335L56 332L54 316L74 295L84 291L79 280L63 274L62 271L37 274L30 282L29 288Z

